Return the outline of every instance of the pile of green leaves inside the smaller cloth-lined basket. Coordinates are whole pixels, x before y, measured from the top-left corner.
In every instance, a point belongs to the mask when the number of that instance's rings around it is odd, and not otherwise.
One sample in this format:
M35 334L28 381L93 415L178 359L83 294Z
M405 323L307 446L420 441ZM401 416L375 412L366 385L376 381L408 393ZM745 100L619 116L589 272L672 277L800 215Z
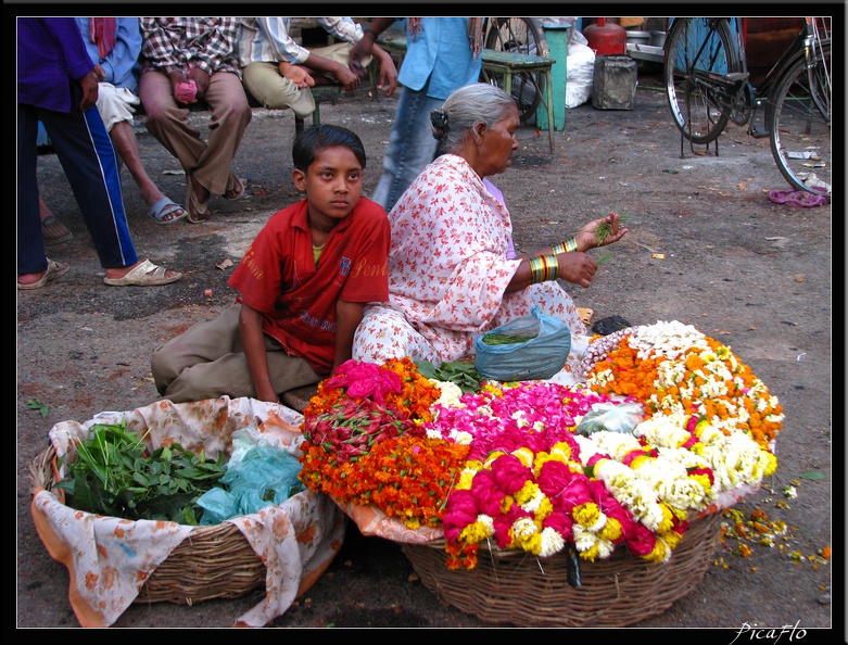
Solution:
M98 423L77 446L67 477L55 488L68 506L129 520L167 520L198 526L198 498L224 476L227 455L207 460L177 443L153 452L126 423Z

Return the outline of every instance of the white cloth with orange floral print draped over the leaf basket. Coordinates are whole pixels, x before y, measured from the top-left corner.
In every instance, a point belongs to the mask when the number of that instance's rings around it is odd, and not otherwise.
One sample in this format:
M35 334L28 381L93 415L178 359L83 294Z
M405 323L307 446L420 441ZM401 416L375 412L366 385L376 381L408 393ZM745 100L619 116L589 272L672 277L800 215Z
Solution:
M94 423L121 423L151 446L179 442L203 447L215 458L228 450L236 430L257 443L300 454L303 417L293 409L253 399L220 399L174 404L162 401L127 413L100 413L85 423L63 421L50 431L56 456L73 454L77 439L88 439ZM60 475L62 470L60 470ZM109 627L138 596L145 580L193 527L166 521L130 521L83 513L65 506L61 491L40 489L33 519L50 555L71 574L69 599L83 627ZM312 586L339 552L344 515L324 494L298 493L279 506L228 520L242 532L267 566L263 600L233 625L262 627L283 614Z

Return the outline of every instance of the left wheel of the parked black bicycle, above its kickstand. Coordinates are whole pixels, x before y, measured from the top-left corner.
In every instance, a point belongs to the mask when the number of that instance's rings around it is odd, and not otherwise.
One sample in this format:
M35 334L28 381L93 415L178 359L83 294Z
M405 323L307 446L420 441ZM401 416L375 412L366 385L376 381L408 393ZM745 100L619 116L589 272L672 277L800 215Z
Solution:
M693 143L709 143L727 125L717 93L697 76L739 72L735 40L724 20L675 18L666 37L663 80L671 114L683 136Z

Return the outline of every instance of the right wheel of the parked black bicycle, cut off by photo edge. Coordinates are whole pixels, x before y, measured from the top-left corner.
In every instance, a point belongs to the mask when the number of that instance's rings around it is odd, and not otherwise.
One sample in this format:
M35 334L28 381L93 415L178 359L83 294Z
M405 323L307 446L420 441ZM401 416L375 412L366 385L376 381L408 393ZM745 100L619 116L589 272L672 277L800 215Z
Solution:
M831 43L822 43L813 66L796 60L770 99L772 155L781 174L797 190L831 194Z

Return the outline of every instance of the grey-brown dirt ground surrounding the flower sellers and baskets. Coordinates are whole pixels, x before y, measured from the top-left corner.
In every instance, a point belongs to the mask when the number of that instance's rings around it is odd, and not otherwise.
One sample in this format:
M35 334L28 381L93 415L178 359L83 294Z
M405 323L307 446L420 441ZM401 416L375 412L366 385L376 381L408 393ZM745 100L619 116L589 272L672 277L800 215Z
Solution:
M350 127L365 141L366 194L380 173L395 104L396 98L374 101L363 89L320 109L324 123ZM206 116L195 117L205 127ZM54 155L40 157L42 194L74 239L48 251L71 264L66 276L42 290L17 292L17 628L78 627L67 600L68 573L50 558L33 526L28 465L47 447L54 423L130 410L156 397L153 351L232 302L226 283L232 267L217 265L238 263L268 216L296 199L293 132L290 112L254 111L235 162L248 195L235 203L213 199L212 220L200 226L154 224L124 173L139 253L185 273L180 282L162 288L103 284L62 168ZM746 627L794 627L806 630L796 631L795 640L824 638L841 625L845 600L839 582L832 589L831 561L817 561L825 547L834 547L836 561L844 554L844 535L835 544L832 527L834 484L841 498L844 477L841 468L833 471L832 207L769 201L769 190L787 186L768 140L749 138L743 128L731 126L722 135L719 156L686 147L681 157L680 136L648 71L640 74L633 110L597 110L591 102L569 110L554 154L546 131L527 126L519 137L512 166L494 178L510 207L519 250L559 241L609 211L629 216L630 232L610 248L612 256L591 288L567 286L577 304L592 308L593 320L619 315L633 325L694 325L750 365L786 415L776 475L738 506L746 518L761 509L769 521L785 522L786 533L773 547L746 543L748 557L736 541L717 546L695 591L635 627L723 629L717 636L726 643ZM139 143L148 170L181 201L185 176L177 162L143 128ZM46 418L28 407L33 399L48 406ZM797 497L785 497L786 485L795 486ZM225 628L260 593L194 606L132 605L114 627ZM329 570L270 627L492 625L441 602L397 544L363 538L350 524ZM775 642L774 634L754 631L741 640L755 635Z

